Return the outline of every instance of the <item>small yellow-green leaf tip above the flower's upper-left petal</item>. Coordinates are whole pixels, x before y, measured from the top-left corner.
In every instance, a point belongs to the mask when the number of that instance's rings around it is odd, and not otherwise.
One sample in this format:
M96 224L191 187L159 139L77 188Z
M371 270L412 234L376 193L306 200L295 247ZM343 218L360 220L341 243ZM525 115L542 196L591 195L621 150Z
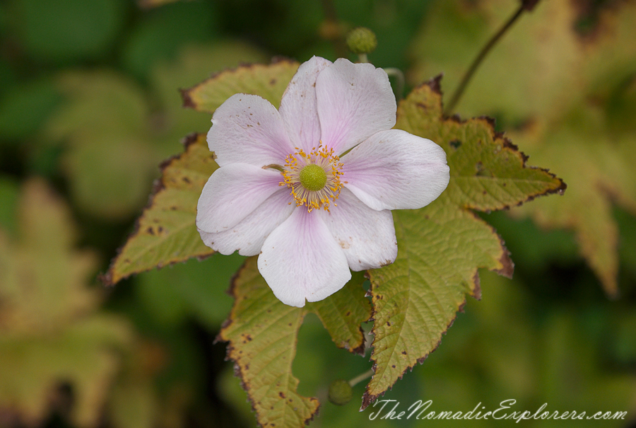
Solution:
M235 93L252 93L278 108L283 92L298 66L298 62L285 59L269 65L251 64L221 71L203 83L182 91L184 106L213 113Z

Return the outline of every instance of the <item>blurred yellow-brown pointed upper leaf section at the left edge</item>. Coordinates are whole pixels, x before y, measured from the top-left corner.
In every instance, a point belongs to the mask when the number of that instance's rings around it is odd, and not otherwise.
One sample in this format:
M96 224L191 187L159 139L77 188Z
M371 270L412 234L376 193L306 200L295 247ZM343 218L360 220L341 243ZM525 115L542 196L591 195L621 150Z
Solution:
M84 285L95 255L73 249L69 210L40 180L23 186L18 224L16 239L0 230L0 333L61 330L98 303Z

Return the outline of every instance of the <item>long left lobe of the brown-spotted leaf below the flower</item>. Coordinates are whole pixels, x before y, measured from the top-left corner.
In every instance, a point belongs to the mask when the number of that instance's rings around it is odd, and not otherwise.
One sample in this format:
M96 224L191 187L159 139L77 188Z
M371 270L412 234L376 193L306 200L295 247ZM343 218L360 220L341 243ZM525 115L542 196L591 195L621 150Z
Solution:
M235 305L228 325L219 333L230 342L228 357L252 402L261 427L302 427L318 411L318 400L296 393L291 373L296 335L305 318L303 308L281 303L250 258L232 287Z

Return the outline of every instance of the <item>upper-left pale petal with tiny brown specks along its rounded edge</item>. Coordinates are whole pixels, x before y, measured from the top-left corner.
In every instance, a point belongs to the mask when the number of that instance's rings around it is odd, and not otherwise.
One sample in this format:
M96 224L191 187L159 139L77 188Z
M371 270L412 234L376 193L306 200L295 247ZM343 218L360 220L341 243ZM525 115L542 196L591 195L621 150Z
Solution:
M294 152L281 115L268 100L237 93L216 109L208 146L219 166L249 163L282 165Z

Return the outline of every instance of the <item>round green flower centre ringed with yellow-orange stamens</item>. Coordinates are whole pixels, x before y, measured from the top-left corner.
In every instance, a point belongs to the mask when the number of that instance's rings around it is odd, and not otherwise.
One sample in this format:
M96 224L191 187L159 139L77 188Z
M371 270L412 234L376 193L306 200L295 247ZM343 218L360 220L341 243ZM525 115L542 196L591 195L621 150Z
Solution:
M285 158L285 166L281 172L283 181L280 185L289 187L296 207L306 205L308 212L317 208L329 211L331 202L337 207L336 199L342 188L340 176L343 164L334 154L334 149L328 150L321 143L309 154L298 147L296 150L298 151Z

